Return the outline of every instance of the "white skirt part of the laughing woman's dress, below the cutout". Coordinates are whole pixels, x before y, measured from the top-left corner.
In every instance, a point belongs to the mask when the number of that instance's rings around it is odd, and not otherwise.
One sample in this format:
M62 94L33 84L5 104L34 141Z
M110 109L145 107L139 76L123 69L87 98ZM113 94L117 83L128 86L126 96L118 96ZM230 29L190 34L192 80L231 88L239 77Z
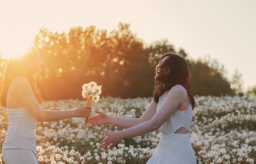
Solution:
M196 164L190 134L163 134L146 164Z

